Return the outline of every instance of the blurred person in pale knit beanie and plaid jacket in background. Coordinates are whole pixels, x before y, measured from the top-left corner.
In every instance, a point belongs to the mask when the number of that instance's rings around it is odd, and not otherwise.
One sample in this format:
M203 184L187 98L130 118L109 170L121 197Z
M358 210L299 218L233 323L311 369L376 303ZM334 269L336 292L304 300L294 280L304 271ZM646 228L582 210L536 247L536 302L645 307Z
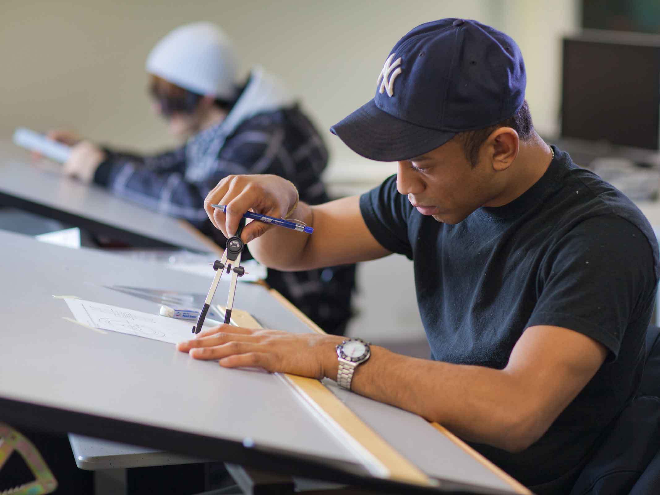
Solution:
M329 201L321 172L327 150L282 81L261 67L240 81L232 42L218 26L195 22L167 34L149 53L149 90L176 150L138 156L82 141L67 131L50 137L73 145L63 171L147 208L178 216L224 246L204 211L207 193L228 174L277 174L310 204ZM355 267L298 273L269 270L267 282L329 333L352 315Z

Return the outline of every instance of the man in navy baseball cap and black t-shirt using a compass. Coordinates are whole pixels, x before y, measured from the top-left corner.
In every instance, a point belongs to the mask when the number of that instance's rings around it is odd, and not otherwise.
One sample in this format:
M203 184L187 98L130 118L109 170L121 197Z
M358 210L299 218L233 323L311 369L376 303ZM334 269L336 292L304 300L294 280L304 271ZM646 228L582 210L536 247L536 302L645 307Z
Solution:
M444 424L539 494L568 493L640 383L653 231L620 191L536 133L506 34L442 19L384 55L376 96L331 130L362 156L398 162L396 176L361 197L299 203L312 236L259 222L242 236L285 270L406 255L430 360L226 327L179 348L227 367L329 377ZM207 213L227 235L249 208L281 215L295 201L280 178L232 176Z

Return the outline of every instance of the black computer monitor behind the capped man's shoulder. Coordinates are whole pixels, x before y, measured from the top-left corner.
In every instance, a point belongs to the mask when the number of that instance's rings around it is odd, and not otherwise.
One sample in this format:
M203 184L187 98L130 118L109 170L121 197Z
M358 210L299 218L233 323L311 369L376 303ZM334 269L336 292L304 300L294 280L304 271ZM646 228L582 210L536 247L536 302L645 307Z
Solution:
M562 138L660 147L660 36L585 30L564 38Z

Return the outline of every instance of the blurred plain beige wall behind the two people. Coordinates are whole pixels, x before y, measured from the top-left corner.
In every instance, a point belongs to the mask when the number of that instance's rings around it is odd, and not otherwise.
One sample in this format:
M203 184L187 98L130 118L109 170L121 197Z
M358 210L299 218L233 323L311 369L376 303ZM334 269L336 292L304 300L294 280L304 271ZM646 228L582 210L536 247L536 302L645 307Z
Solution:
M477 18L514 36L529 67L537 127L554 131L556 34L572 28L572 5L574 0L2 0L0 137L25 125L72 128L139 150L174 144L145 96L145 58L172 28L211 20L234 39L244 71L261 63L302 97L331 147L335 175L352 174L352 166L364 162L327 128L373 96L389 49L407 30L444 16ZM383 170L375 167L364 170Z

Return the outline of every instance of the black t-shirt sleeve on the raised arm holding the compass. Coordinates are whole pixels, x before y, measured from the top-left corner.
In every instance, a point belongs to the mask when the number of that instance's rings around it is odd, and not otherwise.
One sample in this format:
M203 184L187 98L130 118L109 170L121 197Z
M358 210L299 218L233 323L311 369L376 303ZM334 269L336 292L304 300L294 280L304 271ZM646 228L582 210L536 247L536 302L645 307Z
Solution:
M412 205L397 191L397 176L360 196L360 212L374 238L383 248L413 259L408 238Z

